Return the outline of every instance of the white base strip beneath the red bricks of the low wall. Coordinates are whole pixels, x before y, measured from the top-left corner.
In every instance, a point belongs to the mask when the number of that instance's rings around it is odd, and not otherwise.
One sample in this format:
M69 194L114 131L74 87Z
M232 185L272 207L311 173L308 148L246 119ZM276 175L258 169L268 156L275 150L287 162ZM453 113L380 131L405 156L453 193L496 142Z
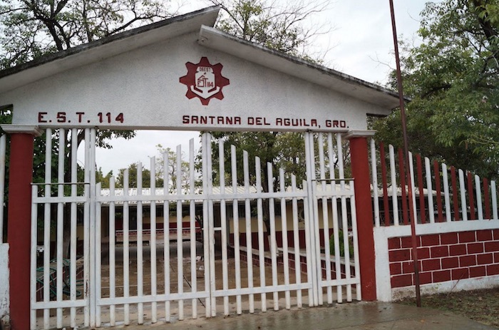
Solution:
M475 277L473 279L461 279L433 284L421 285L421 294L437 294L442 292L456 292L473 289L490 289L499 286L499 275L489 277ZM403 298L416 297L414 286L391 289L393 301Z

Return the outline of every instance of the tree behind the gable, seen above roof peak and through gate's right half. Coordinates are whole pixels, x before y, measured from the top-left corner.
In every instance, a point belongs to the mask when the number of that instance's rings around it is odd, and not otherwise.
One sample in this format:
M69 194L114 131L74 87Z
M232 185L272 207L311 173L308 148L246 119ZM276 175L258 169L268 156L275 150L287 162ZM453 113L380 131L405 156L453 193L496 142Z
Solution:
M217 28L242 38L246 41L258 43L275 51L299 56L309 61L320 62L317 56L311 56L309 46L314 38L321 33L330 31L327 25L304 22L313 21L314 15L329 7L329 0L324 1L287 1L279 6L274 1L264 0L210 0L220 6L222 14L217 21ZM254 158L259 157L262 162L262 190L269 191L269 177L267 163L272 164L273 172L279 168L297 175L297 182L301 184L305 176L304 139L301 133L286 132L215 132L212 133L212 150L217 149L217 141L225 140L227 145L237 147L237 160L242 168L242 152L249 154L249 166L254 168ZM214 158L214 179L220 180L217 158ZM230 164L230 148L225 150L225 168ZM242 184L243 172L238 172L237 181ZM255 177L250 177L254 184ZM278 180L272 180L274 189L279 186ZM263 220L270 234L269 205L264 200Z

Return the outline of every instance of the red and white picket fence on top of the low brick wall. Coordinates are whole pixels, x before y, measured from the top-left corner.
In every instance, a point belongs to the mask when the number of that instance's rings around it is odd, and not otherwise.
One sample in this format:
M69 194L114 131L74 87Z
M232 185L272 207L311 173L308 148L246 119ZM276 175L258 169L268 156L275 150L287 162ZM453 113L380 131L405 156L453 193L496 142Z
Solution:
M498 220L495 181L446 164L409 155L413 215L418 224L468 220ZM371 177L376 227L408 225L408 186L401 150L376 148L371 140Z

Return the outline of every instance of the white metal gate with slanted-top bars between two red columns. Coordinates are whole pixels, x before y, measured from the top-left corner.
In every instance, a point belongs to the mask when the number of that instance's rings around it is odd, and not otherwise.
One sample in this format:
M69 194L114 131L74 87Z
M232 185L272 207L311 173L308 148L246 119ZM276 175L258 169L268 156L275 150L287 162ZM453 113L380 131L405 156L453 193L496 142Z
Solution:
M163 183L155 179L161 161L152 158L149 187L138 164L135 187L125 171L123 187L111 178L104 189L96 182L96 131L56 131L56 182L52 133L45 182L33 189L32 329L168 322L266 311L267 304L318 306L324 294L329 304L351 301L352 292L360 300L354 186L345 178L341 134L304 133L302 182L246 152L240 161L222 141L212 150L204 133L200 171L191 140L188 162L180 146L175 159L164 155ZM83 168L76 163L78 135L85 136ZM71 148L61 153L66 138ZM71 155L71 182L64 155Z

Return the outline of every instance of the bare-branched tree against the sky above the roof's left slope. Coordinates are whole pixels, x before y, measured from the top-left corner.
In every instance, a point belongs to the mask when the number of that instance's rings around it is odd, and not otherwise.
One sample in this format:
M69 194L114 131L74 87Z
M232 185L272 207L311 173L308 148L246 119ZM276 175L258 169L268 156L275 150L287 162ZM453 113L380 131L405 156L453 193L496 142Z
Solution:
M171 16L164 1L0 1L2 55L9 68Z

